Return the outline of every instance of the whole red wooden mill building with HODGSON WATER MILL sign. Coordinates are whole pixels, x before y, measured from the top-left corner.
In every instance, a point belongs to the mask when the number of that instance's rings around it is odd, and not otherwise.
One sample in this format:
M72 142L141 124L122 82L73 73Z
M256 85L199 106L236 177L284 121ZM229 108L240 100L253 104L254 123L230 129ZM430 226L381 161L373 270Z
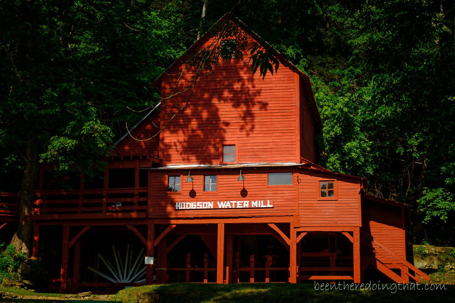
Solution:
M409 205L316 164L322 124L307 75L287 62L263 79L233 59L186 89L194 79L177 60L155 80L162 101L115 143L106 180L78 176L64 190L41 167L33 256L62 237L50 289L428 279L406 261Z

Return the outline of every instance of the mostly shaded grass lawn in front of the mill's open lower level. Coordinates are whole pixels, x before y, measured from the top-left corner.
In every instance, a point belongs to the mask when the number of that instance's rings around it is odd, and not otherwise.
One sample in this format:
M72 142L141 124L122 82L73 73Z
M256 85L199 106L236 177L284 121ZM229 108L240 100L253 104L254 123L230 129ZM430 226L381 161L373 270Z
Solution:
M395 293L392 292L390 289L321 291L315 290L314 284L173 283L123 289L111 300L136 303L138 294L156 293L159 303L411 303L435 299L445 303L453 302L455 286L445 285L443 290L395 289Z

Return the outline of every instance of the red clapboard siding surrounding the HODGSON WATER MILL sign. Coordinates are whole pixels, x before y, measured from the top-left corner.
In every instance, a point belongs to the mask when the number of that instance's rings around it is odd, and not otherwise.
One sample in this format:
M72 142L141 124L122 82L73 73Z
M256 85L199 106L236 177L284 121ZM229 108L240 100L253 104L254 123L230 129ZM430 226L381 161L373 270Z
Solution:
M282 169L280 171L293 172L293 169ZM294 173L296 170L294 170ZM187 171L169 170L169 175L179 175ZM248 195L243 197L241 191L243 182L237 181L239 171L191 171L193 182L181 182L182 194L169 194L166 190L166 178L162 171L151 173L150 195L151 210L149 218L187 218L187 217L248 217L248 216L292 216L296 212L296 190L295 180L293 185L268 186L267 171L253 172L244 171L245 189ZM202 191L202 178L204 174L217 174L217 193ZM194 190L196 197L190 197L190 191ZM175 204L180 202L207 202L230 200L273 200L273 208L249 208L249 209L182 209L176 210Z

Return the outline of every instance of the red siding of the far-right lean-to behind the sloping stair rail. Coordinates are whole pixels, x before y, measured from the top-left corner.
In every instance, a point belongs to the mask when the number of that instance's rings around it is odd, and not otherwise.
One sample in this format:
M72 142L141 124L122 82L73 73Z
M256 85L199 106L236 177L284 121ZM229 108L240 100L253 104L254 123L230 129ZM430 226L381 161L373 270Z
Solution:
M362 202L362 214L370 215L369 225L371 235L390 248L394 253L405 258L401 208L366 200ZM388 258L394 260L384 250L382 253L385 253ZM378 257L378 259L381 262L389 263L389 261L382 257Z

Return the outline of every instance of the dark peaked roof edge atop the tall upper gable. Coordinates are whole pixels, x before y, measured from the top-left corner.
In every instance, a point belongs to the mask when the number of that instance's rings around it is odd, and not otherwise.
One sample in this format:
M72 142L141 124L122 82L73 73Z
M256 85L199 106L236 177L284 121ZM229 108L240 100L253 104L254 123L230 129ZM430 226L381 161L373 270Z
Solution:
M220 20L217 21L217 24L219 24L220 22L224 22L226 20L227 16L224 15ZM250 30L248 28L247 25L245 25L241 20L239 20L238 18L236 17L231 17L231 20L232 21L235 21L237 22L237 24L243 29L243 31L245 31L245 33L247 33L248 35L250 35L254 40L256 41L263 41L263 44L265 44L264 46L266 47L270 47L271 49L275 50L272 45L269 45L265 40L263 40L259 35L257 35L255 32L253 32L253 30ZM188 52L190 52L191 50L194 50L196 49L199 45L202 45L205 41L207 41L208 39L212 38L211 34L210 34L210 30L208 32L206 32L204 35L202 35L199 40L197 40L196 42L194 42L188 49L187 51L182 55L180 56L180 58L178 58L177 60L175 60L168 68L167 70L165 70L157 79L155 79L155 81L152 82L152 87L157 90L158 93L161 94L161 90L160 90L160 83L161 83L161 79L168 75L169 72L176 66L178 65L182 65L183 64L183 61L182 61L182 58L185 57ZM289 69L293 70L295 73L297 73L298 75L300 75L300 77L303 78L303 80L305 81L305 83L307 84L307 87L308 89L310 90L309 91L309 96L310 96L310 103L311 103L311 109L313 111L313 116L314 116L314 119L316 120L318 126L320 129L323 128L322 126L322 121L321 121L321 116L319 115L319 111L318 111L318 107L316 105L316 101L314 100L314 94L313 94L313 90L311 89L311 83L310 83L310 79L307 75L305 75L301 70L299 70L295 65L293 65L289 60L287 60L286 58L283 57L283 55L281 55L278 50L275 50L278 54L278 56L284 61L286 62L286 67L288 67Z

